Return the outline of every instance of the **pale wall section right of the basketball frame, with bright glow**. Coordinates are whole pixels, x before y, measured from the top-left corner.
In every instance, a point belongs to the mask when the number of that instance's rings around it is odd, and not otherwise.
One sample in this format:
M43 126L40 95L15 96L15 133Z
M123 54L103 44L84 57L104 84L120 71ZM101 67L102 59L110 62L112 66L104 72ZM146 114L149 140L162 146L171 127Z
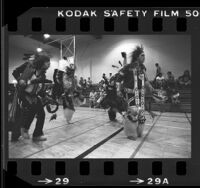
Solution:
M88 77L90 61L92 61L92 79L98 82L102 73L115 73L117 69L112 64L119 65L121 52L128 54L137 44L143 44L149 79L154 79L155 63L159 63L163 72L172 71L175 77L180 76L185 69L191 70L190 37L189 36L104 36L96 40L86 50L82 57L77 53L77 74ZM128 59L130 61L130 58Z

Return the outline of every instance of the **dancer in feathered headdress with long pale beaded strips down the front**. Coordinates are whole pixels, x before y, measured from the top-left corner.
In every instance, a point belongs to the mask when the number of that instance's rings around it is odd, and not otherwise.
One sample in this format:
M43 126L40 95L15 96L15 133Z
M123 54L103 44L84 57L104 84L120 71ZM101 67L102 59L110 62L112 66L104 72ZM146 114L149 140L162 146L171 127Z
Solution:
M124 130L129 139L141 137L145 125L145 86L153 90L144 66L145 54L142 46L137 46L131 54L131 62L118 74L121 93L128 105L124 114Z

